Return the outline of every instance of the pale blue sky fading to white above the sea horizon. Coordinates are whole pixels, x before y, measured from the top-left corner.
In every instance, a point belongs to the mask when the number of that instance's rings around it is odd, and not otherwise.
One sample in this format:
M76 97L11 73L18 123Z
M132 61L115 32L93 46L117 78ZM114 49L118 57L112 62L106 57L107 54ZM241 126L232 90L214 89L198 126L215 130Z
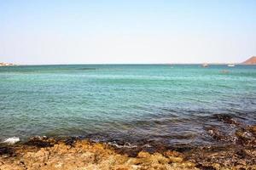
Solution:
M256 55L255 0L0 0L0 62L237 63Z

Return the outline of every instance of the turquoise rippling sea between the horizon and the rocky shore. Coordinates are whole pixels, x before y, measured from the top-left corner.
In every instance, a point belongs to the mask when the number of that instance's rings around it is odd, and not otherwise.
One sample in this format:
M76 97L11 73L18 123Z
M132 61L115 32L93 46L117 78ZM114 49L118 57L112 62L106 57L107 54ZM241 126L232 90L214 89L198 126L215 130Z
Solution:
M256 122L255 65L0 67L0 140L212 143L207 127L234 130L216 115Z

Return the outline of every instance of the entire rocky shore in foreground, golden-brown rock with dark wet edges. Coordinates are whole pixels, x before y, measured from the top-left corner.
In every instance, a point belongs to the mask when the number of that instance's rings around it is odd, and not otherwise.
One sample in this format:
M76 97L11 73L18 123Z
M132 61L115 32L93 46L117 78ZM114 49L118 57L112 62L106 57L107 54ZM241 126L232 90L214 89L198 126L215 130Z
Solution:
M213 139L229 139L217 129L208 131ZM162 146L154 152L117 148L88 139L47 137L0 147L0 170L25 169L256 169L256 126L237 130L236 142L200 147Z

